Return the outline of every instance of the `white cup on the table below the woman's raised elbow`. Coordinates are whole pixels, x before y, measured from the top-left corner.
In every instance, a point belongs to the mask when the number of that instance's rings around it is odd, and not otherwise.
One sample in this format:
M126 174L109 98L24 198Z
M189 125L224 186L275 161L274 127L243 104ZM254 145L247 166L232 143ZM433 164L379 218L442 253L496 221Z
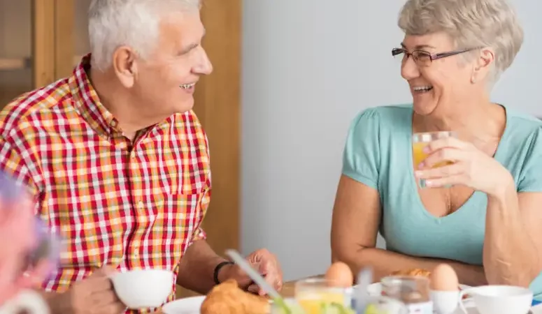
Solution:
M512 285L483 285L462 290L459 307L464 307L462 297L469 294L480 314L527 314L533 301L533 292L525 287Z

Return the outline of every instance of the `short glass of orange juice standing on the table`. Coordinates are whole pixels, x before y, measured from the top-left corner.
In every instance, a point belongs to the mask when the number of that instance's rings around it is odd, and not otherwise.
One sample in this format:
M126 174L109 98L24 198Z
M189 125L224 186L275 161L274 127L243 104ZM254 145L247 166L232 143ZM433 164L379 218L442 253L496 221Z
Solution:
M344 287L337 287L325 278L308 278L297 281L295 299L306 314L320 314L322 308L332 305L350 307L350 295Z

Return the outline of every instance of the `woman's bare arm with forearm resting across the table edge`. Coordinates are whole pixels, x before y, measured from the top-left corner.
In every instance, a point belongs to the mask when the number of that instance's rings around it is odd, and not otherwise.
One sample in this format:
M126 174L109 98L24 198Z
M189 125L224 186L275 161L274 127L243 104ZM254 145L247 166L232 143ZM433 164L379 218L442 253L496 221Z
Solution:
M484 285L481 266L450 260L411 257L376 248L378 226L382 216L378 190L350 177L341 176L338 184L331 223L331 258L347 263L357 274L371 267L376 281L399 269L433 269L446 262L457 272L465 285Z

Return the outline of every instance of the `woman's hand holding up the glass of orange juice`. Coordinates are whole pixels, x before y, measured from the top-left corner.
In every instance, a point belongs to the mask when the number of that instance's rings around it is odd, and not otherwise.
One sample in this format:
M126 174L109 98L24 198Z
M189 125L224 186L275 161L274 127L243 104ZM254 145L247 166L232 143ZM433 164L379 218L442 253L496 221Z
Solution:
M425 153L429 156L418 165L415 176L425 179L430 188L463 184L487 195L499 195L506 185L513 184L510 172L497 160L455 137L430 142ZM446 161L453 164L432 168Z

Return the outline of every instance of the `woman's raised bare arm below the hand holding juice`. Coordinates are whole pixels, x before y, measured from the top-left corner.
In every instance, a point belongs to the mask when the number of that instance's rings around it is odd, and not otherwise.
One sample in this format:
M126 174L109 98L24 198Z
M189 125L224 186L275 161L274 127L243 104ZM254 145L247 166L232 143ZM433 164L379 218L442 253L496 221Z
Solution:
M542 271L542 193L518 195L512 178L499 182L502 192L487 197L483 253L487 280L528 287Z

